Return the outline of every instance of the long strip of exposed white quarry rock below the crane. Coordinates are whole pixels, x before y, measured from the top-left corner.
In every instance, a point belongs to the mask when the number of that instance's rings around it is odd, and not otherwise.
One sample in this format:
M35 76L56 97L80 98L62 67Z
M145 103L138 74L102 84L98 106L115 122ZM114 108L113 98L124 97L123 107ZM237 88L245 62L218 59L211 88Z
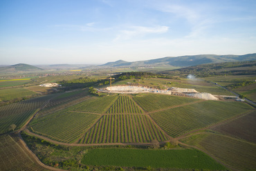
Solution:
M197 99L204 100L219 100L217 97L214 97L212 94L207 92L197 92L194 89L188 88L167 88L166 90L160 90L156 88L149 88L143 86L112 86L104 89L99 89L100 92L109 92L109 93L120 93L120 94L134 94L141 92L151 92L151 93L160 93L160 94L172 94L182 97L194 97Z

